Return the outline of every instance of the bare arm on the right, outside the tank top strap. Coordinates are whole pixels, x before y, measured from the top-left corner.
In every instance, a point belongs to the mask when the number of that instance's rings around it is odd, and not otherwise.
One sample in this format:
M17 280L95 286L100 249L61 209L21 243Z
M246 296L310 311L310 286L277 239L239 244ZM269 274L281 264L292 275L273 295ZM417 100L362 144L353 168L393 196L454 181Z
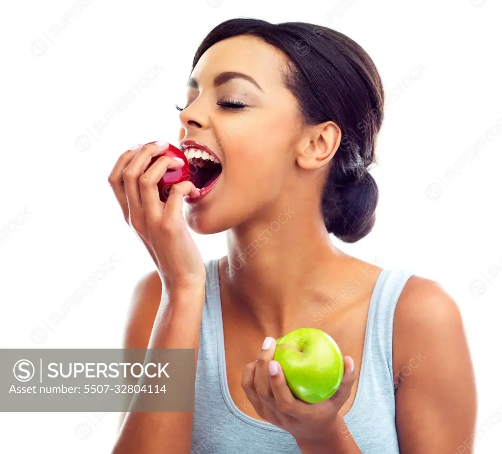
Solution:
M412 277L395 317L400 452L473 452L474 371L456 303L437 283Z

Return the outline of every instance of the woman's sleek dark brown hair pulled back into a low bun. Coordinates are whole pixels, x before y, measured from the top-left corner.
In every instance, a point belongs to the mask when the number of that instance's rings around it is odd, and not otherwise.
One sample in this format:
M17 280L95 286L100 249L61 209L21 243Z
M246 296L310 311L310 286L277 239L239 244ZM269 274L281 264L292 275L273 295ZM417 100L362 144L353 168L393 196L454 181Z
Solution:
M378 187L367 168L375 162L375 140L384 115L384 90L367 53L344 34L304 22L271 24L230 19L216 26L195 53L226 38L252 35L285 55L284 84L296 97L306 125L335 122L342 139L331 160L322 195L326 229L346 243L373 228Z

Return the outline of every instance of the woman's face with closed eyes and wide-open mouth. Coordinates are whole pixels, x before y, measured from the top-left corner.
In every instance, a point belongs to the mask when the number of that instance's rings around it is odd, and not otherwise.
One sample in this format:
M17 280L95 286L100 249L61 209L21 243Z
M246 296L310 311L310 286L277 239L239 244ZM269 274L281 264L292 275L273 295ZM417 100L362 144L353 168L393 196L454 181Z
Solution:
M295 197L300 169L294 150L302 126L296 99L281 79L282 61L273 46L238 36L216 43L197 62L180 112L180 140L202 142L223 170L209 194L187 204L195 232L222 232L250 218L270 222ZM227 72L245 74L258 86L244 77L221 77Z

